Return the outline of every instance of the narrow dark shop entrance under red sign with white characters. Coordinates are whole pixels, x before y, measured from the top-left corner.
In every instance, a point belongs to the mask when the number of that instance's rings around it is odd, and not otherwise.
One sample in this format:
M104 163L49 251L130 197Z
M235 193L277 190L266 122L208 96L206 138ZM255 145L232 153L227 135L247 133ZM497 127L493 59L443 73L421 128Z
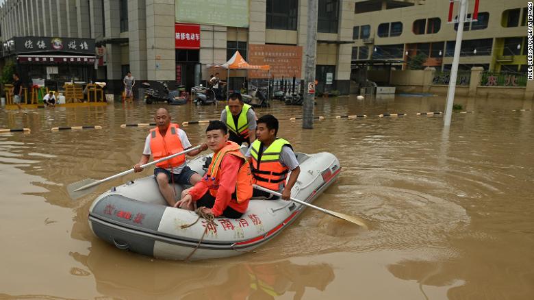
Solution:
M201 80L200 25L175 23L176 84L191 90Z

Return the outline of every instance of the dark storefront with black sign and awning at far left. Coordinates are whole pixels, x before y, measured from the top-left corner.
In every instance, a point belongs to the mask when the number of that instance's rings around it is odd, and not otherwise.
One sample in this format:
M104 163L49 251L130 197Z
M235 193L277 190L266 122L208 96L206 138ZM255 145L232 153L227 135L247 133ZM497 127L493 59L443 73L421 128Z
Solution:
M90 38L15 37L3 44L3 60L27 85L39 83L60 90L65 82L86 84L94 80L95 49Z

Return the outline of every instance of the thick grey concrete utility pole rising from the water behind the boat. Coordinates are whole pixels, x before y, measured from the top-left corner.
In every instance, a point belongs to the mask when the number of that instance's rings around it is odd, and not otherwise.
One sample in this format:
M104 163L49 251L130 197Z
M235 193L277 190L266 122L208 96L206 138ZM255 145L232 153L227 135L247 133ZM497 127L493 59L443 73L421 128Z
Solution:
M308 32L306 39L306 68L304 80L304 105L302 127L304 129L314 128L314 103L315 103L315 88L314 92L310 93L309 85L315 85L315 62L316 62L316 48L317 48L317 10L319 0L308 0Z

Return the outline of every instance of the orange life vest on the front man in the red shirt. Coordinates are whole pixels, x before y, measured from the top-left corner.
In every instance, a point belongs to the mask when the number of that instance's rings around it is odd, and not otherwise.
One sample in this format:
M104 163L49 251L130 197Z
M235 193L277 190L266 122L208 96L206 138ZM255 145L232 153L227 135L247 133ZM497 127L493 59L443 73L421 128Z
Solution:
M213 197L217 197L217 190L219 188L219 171L220 162L226 155L235 155L242 160L242 165L238 171L238 180L236 182L236 190L232 194L231 202L243 203L249 201L252 197L252 174L249 164L246 163L246 158L241 153L239 145L235 142L228 141L223 149L214 153L212 163L207 168L207 173L204 180L209 188L209 193Z

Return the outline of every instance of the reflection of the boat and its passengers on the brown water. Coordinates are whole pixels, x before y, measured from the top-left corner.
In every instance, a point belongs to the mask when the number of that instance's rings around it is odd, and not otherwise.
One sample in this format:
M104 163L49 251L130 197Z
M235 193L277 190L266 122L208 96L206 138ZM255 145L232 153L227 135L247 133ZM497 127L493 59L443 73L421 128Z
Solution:
M272 299L286 293L305 299L307 288L325 290L335 277L326 263L168 262L110 251L100 240L88 255L69 255L81 264L71 268L73 275L92 275L99 293L120 299Z

